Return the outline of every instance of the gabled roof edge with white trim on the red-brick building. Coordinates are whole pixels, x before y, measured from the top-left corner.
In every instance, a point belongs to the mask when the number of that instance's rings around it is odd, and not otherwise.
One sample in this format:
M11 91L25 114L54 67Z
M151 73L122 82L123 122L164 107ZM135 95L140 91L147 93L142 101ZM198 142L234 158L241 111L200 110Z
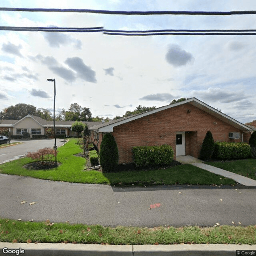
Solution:
M220 120L238 128L240 130L244 130L244 131L251 131L252 130L248 126L246 126L245 124L242 124L242 123L238 122L237 120L231 118L230 116L227 116L226 114L223 114L222 112L216 110L215 108L212 108L211 106L205 104L204 102L198 100L197 98L190 98L190 99L184 100L182 102L169 104L169 105L162 106L160 108L155 108L153 110L143 112L143 113L140 113L140 114L135 114L135 115L132 115L132 116L128 116L128 117L120 118L120 119L117 119L117 120L109 121L109 122L106 122L104 124L99 124L99 125L93 126L91 128L91 130L94 130L94 131L97 131L97 132L113 132L113 127L118 126L120 124L125 124L127 122L132 121L132 120L136 120L138 118L142 118L144 116L148 116L148 115L157 113L159 111L166 110L168 108L174 108L176 106L180 106L180 105L187 104L187 103L192 104L193 106L203 110L204 112L206 112L208 114L211 114L212 116L215 116L216 118L218 118L218 119L220 119Z

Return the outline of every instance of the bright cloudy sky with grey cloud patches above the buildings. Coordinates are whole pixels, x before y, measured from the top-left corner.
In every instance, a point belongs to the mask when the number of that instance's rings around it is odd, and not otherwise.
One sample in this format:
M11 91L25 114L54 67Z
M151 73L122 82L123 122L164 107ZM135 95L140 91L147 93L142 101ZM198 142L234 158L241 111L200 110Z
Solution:
M256 10L255 0L1 0L0 7L119 11ZM256 29L256 15L124 16L0 12L0 26L110 30ZM113 36L102 32L0 31L0 110L72 103L114 118L142 106L195 97L239 122L256 120L256 36Z

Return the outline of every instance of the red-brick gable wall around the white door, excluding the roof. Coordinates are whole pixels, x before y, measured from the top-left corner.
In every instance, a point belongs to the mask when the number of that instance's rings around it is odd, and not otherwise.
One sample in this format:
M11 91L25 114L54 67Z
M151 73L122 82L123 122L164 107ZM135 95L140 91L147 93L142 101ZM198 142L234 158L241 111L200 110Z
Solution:
M188 109L190 113L187 112ZM189 103L115 126L112 134L119 150L119 163L130 163L134 146L169 144L176 159L176 132L186 132L186 154L199 157L208 130L212 132L214 141L241 142L240 139L228 138L229 132L242 132L241 130ZM98 147L101 140L102 138Z

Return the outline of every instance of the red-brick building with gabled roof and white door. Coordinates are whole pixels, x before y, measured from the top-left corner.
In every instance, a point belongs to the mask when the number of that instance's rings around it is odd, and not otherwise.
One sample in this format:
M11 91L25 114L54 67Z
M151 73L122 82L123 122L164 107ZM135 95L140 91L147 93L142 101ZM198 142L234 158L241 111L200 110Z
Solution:
M119 163L133 161L134 146L162 144L172 146L174 160L181 155L198 158L207 131L212 132L214 141L248 142L254 130L252 126L246 126L196 98L106 122L90 129L98 149L104 134L113 134L118 146Z

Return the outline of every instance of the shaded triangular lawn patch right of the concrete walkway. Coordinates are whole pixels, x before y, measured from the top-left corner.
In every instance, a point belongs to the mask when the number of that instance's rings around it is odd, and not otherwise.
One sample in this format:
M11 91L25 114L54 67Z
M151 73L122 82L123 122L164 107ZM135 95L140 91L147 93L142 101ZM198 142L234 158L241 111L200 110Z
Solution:
M206 162L206 164L256 180L256 159L242 159L228 162Z

